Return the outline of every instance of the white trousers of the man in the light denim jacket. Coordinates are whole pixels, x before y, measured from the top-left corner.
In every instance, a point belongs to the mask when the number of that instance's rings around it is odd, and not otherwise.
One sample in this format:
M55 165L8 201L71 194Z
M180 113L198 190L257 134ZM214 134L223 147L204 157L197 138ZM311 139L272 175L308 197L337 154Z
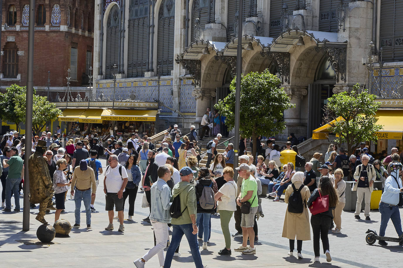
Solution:
M166 248L166 241L168 240L168 225L154 221L151 221L151 225L154 227L156 245L143 256L143 260L147 262L157 254L160 266L164 266L164 248Z

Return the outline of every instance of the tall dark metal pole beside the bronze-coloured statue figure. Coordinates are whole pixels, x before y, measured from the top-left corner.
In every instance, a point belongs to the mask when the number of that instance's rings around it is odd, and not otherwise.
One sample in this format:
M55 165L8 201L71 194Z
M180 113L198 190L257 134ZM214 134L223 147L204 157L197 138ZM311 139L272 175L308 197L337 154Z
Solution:
M33 102L33 34L35 29L35 0L29 1L29 27L28 27L28 71L27 71L27 98L25 111L25 158L24 158L24 211L23 231L29 231L29 172L28 160L32 149L32 102ZM31 133L29 133L31 132ZM29 136L31 137L29 137Z

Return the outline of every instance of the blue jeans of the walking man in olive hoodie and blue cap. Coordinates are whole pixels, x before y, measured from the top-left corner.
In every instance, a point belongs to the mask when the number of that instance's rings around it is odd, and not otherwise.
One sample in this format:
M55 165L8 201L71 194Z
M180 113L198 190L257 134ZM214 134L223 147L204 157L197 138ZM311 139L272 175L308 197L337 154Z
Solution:
M193 226L189 224L175 225L172 224L172 239L171 243L166 251L164 268L170 268L172 258L174 256L175 250L178 248L179 243L182 240L183 235L186 236L187 242L189 243L190 251L192 253L193 262L196 268L203 268L202 257L200 257L199 243L197 243L197 237L193 233Z

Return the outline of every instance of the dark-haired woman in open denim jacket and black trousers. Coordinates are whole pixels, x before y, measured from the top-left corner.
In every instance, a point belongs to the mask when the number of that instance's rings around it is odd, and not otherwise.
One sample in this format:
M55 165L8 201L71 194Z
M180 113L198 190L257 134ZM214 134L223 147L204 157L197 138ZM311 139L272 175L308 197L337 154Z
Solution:
M125 201L127 196L129 196L129 217L128 221L133 221L134 215L134 201L136 200L137 190L139 188L139 183L141 180L141 172L139 166L136 165L137 156L130 155L129 159L125 164L127 171L127 184L125 191L123 192L123 210L125 210Z

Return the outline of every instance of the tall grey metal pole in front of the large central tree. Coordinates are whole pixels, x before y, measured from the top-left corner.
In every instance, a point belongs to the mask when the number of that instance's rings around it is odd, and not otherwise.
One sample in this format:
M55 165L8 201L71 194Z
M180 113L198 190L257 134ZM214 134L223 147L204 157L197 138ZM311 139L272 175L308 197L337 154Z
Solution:
M239 17L238 17L238 47L237 47L237 85L235 91L235 156L234 168L238 167L238 154L239 154L239 113L241 110L241 73L242 73L242 11L243 0L239 0ZM234 174L237 178L238 174Z

